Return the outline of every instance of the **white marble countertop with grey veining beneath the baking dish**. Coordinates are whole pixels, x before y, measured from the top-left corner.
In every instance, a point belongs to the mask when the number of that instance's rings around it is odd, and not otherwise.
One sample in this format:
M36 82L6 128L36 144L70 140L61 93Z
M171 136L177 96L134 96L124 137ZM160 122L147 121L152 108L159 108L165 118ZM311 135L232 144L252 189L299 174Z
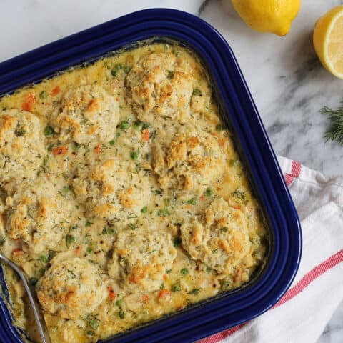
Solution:
M322 68L312 46L315 21L338 4L343 1L302 0L291 32L280 38L247 28L229 0L3 0L0 61L131 11L182 9L209 21L232 46L276 153L342 174L343 147L324 142L327 119L319 110L338 106L343 81ZM319 342L343 342L343 304Z

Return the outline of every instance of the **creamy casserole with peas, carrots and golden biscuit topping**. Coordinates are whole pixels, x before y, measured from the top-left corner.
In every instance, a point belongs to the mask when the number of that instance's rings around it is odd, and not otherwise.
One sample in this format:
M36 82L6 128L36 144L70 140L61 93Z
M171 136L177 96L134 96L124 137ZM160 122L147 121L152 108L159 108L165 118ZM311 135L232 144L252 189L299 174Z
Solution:
M267 230L199 60L152 44L0 101L1 249L52 342L96 342L241 286ZM8 269L15 324L39 340Z

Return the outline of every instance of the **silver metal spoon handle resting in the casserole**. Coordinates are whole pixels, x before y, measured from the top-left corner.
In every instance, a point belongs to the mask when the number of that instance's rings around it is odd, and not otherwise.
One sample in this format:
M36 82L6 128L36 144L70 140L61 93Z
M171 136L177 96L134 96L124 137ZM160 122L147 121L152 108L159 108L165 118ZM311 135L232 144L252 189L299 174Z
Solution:
M36 319L37 327L39 330L39 334L41 335L41 342L42 343L51 343L50 335L48 332L48 328L46 327L46 322L44 320L43 312L41 310L41 305L38 302L37 296L36 296L36 290L31 284L31 281L29 279L29 276L24 272L21 267L17 266L14 262L11 262L9 259L4 257L3 254L0 252L0 259L4 261L6 264L9 265L9 267L13 268L16 273L21 278L21 281L24 284L24 287L26 289L27 295L29 296L29 301L32 307L32 310L34 311L34 318Z

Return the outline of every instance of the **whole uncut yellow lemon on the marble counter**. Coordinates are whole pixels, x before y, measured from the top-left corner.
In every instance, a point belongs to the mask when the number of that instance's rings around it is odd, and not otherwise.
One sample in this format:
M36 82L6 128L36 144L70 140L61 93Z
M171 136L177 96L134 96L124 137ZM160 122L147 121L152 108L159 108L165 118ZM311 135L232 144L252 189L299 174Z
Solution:
M232 0L245 24L259 32L288 34L300 9L300 0Z

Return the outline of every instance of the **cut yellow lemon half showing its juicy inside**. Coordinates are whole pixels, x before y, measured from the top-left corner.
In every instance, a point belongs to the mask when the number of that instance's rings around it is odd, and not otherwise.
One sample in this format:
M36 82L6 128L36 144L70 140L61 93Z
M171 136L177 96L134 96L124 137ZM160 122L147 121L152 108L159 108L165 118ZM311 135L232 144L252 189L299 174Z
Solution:
M317 21L313 44L323 66L343 79L343 6L334 7Z

